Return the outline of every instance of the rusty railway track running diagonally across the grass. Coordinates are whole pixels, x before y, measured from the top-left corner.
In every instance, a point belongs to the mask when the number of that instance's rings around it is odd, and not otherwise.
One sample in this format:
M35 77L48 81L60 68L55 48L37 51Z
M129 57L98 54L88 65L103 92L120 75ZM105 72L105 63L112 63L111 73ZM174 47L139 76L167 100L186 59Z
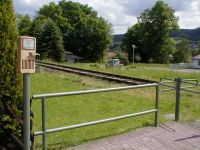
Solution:
M113 81L113 82L126 83L129 85L156 83L156 81L147 80L147 79L134 78L134 77L128 77L128 76L124 76L124 75L117 75L117 74L112 74L112 73L75 68L75 67L64 66L64 65L60 65L60 64L52 64L52 63L37 61L36 65L45 67L45 68L50 68L53 70L75 73L75 74L79 74L79 75L100 78L103 80L108 80L108 81Z

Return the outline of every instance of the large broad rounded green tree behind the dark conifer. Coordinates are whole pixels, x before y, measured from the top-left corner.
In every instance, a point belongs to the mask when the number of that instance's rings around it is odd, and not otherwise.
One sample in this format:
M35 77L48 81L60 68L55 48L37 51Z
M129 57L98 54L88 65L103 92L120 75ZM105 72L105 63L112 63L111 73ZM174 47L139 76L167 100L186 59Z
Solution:
M65 50L88 61L103 59L104 51L112 39L111 24L98 17L91 7L65 0L57 5L54 2L44 5L33 21L33 35L37 37L44 25L42 22L48 18L60 28Z

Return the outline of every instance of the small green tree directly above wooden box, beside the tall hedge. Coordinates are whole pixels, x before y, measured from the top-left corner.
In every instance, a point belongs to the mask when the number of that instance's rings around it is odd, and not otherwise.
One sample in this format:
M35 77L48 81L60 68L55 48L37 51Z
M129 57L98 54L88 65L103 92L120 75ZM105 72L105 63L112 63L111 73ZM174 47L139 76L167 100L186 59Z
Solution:
M17 15L17 26L19 34L22 36L28 36L31 34L32 20L29 15Z

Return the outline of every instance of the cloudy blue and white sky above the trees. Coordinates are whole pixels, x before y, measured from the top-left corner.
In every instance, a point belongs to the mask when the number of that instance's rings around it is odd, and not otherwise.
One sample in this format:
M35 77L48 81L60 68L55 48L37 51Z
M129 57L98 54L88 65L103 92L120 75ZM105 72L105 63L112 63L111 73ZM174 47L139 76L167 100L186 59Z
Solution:
M15 11L34 16L44 4L58 0L13 0ZM137 22L137 17L146 8L151 8L156 0L72 0L88 4L113 25L114 33L125 33L128 27ZM200 27L200 0L164 0L179 17L181 28Z

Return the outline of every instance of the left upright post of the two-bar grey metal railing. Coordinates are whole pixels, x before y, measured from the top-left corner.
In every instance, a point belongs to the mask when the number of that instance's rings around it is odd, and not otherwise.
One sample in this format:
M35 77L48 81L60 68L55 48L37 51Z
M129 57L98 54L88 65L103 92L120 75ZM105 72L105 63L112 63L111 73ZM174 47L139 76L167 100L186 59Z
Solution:
M42 147L47 150L47 135L46 135L46 97L42 98Z

